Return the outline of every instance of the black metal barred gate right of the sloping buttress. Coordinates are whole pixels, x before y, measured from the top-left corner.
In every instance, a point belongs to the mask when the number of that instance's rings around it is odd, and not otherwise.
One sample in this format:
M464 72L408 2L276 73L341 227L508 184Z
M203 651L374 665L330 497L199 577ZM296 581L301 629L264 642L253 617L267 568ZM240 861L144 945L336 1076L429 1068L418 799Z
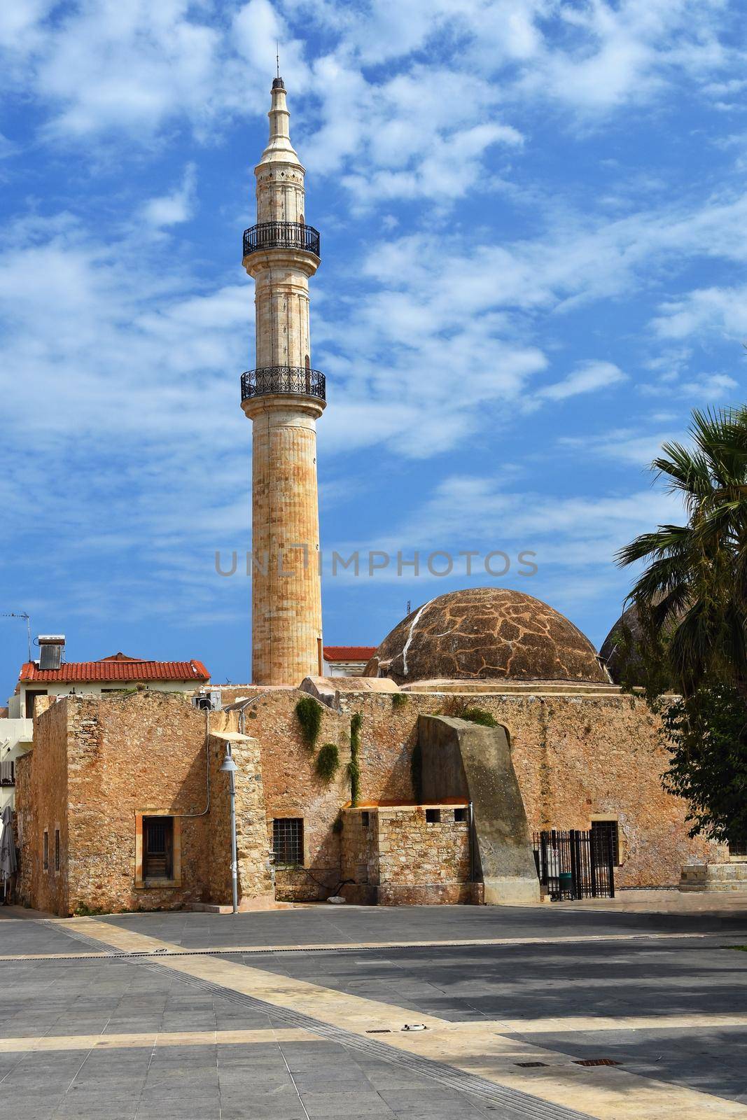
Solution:
M534 861L540 884L553 900L614 898L613 837L601 829L551 829L534 833Z

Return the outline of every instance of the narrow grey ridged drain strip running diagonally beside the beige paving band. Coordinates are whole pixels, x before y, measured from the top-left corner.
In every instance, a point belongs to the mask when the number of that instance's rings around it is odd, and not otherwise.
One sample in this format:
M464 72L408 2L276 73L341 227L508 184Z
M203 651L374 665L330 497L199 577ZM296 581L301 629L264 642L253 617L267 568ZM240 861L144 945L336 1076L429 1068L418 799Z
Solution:
M63 932L72 933L73 931L64 930ZM93 937L86 936L85 940L95 944ZM110 946L102 942L97 948L109 950ZM110 959L116 959L115 954L111 954ZM587 1112L577 1112L575 1109L568 1109L562 1104L553 1104L551 1101L544 1101L539 1096L522 1093L517 1089L496 1084L493 1081L488 1081L487 1077L467 1073L452 1065L447 1065L445 1062L420 1057L418 1054L409 1054L407 1051L396 1049L389 1043L379 1042L377 1038L356 1035L352 1030L336 1027L332 1023L324 1023L321 1019L315 1019L310 1015L293 1011L288 1007L277 1007L274 1004L268 1004L262 999L256 999L254 996L235 991L233 988L224 988L222 984L213 983L209 980L190 977L186 972L176 972L174 969L168 968L168 965L159 963L152 956L140 956L133 960L132 963L137 968L158 973L164 979L168 979L169 981L179 980L190 988L208 992L217 999L244 1007L246 1010L270 1015L273 1019L284 1023L287 1026L308 1030L318 1038L326 1038L328 1042L337 1043L347 1049L363 1054L365 1057L387 1062L390 1065L396 1065L410 1071L415 1076L428 1077L430 1081L435 1081L447 1089L468 1093L470 1096L476 1096L485 1101L488 1107L501 1105L504 1120L592 1120Z

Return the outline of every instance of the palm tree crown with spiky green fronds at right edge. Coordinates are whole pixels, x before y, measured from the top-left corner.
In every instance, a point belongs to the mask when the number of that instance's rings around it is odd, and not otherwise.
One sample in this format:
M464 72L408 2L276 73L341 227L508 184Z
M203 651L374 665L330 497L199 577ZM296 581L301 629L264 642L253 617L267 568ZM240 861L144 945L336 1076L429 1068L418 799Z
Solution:
M747 688L747 407L695 410L690 435L692 446L664 444L652 464L682 496L687 524L660 525L617 554L647 564L631 599L684 696L713 676Z

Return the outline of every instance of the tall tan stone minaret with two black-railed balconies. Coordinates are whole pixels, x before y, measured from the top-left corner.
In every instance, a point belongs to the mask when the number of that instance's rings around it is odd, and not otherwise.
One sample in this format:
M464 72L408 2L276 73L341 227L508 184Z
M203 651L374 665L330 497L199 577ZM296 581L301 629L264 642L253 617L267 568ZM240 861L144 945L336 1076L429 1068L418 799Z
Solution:
M256 314L256 368L241 379L253 431L252 680L300 684L321 672L316 422L326 402L309 344L319 234L306 224L306 172L279 76L268 115L270 140L254 168L258 224L244 232Z

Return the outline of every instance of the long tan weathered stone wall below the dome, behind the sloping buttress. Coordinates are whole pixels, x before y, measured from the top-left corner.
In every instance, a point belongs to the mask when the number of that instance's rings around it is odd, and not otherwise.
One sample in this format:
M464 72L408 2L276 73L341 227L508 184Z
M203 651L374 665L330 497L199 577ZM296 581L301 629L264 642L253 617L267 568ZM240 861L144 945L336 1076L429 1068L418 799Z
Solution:
M236 687L233 696L252 691L258 690ZM337 741L343 763L338 780L325 787L314 774L314 755L300 741L293 713L300 696L297 690L272 690L260 699L246 729L260 740L270 836L273 816L304 816L315 874L330 888L336 875L343 877L332 825L339 806L349 801L344 764L349 757L349 719L356 711L362 716L362 804L414 800L411 758L420 713L458 715L464 707L476 707L508 730L530 829L588 829L594 816L618 819L618 886L675 886L689 858L723 858L722 848L688 837L684 802L664 793L661 775L669 756L659 721L643 700L592 692L411 692L402 703L389 694L344 692L340 712L324 710L319 744ZM319 875L325 868L327 875ZM293 897L323 896L310 881L304 893L304 872L280 872L281 890L289 879Z

